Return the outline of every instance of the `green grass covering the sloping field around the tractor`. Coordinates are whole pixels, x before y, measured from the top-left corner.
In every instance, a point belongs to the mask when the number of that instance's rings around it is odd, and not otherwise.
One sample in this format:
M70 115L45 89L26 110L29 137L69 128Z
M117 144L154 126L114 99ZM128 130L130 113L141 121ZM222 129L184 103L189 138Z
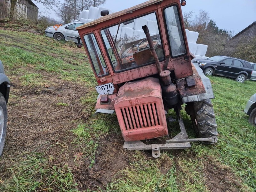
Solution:
M94 90L97 82L84 51L44 36L0 30L0 60L4 63L6 74L11 79L18 76L18 81L25 87L42 87L47 84L45 77L55 76L88 88L88 92L78 99L84 105L82 113L89 118L76 122L78 125L74 123L75 126L68 131L74 138L58 145L79 148L83 152L81 161L88 161L88 170L93 170L102 138L111 134L120 135L121 132L116 115L92 116L97 99ZM208 164L216 165L214 171L220 170L220 173L222 169L229 170L230 177L236 177L241 183L240 191L254 191L256 129L248 123L248 116L243 109L247 100L256 92L256 82L245 81L240 84L219 76L210 79L215 95L212 103L218 124L218 144L204 146L193 143L187 150L161 151L158 159L153 159L150 152L123 151L128 163L116 171L116 179L105 185L104 190L99 188L98 191L210 191L205 176ZM11 100L19 98L16 93L11 94ZM69 106L68 101L56 102L57 109ZM184 111L181 114L189 136L194 137L189 116ZM168 115L176 118L171 110ZM174 130L172 134L178 132L177 122L169 126ZM63 147L58 152L66 154L67 148ZM67 160L60 164L55 158L52 154L33 151L15 157L7 156L6 162L11 163L5 165L8 175L0 177L0 183L3 184L0 184L0 190L76 191L78 183L74 178L77 172L72 171ZM83 167L78 160L75 166L77 169ZM0 165L2 167L4 165ZM87 188L83 191L87 191Z

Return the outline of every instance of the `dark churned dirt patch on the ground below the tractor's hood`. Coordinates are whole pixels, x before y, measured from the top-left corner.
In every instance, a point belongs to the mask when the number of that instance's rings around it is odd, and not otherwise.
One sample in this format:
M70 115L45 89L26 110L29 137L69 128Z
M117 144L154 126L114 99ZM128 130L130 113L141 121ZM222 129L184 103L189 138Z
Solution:
M90 167L91 162L86 159L75 170L74 177L81 191L86 188L105 189L112 179L120 178L116 173L130 162L129 153L123 149L122 137L110 134L100 138L94 162L93 167Z

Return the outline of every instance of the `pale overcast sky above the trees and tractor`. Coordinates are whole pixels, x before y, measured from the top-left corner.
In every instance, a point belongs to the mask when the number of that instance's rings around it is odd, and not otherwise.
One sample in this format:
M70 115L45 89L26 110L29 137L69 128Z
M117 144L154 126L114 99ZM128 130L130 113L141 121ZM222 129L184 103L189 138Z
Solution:
M146 1L107 0L101 7L121 11ZM64 0L60 0L60 2L64 2ZM36 5L39 11L43 11L43 6ZM195 15L200 9L209 12L210 18L216 22L219 28L231 30L234 34L256 21L256 0L187 0L187 5L182 7L182 12L194 11ZM54 13L48 16L57 18Z

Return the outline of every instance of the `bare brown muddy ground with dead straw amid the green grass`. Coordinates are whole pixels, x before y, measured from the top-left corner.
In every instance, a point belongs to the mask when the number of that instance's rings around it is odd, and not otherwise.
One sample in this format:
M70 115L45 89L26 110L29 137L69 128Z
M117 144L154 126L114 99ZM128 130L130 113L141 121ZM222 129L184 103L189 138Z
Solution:
M45 87L29 88L21 85L19 75L12 76L8 132L0 161L1 181L12 177L8 168L16 162L15 156L32 151L54 157L52 164L67 165L72 170L78 190L97 190L98 187L104 190L113 178L122 177L118 171L131 166L133 152L122 148L124 141L119 134L110 133L100 137L92 168L89 158L82 158L82 153L77 158L86 143L73 143L76 136L70 130L81 122L86 123L92 115L93 111L80 100L86 97L88 90L82 84L63 81L52 75L44 74L44 78L48 82ZM68 106L58 106L57 103L67 103ZM178 159L181 152L172 153ZM142 155L152 159L150 152L142 152ZM193 154L189 156L193 158ZM168 172L167 163L161 164L163 173ZM204 167L205 184L211 191L239 191L241 183L230 170L211 159ZM181 172L178 164L177 172Z

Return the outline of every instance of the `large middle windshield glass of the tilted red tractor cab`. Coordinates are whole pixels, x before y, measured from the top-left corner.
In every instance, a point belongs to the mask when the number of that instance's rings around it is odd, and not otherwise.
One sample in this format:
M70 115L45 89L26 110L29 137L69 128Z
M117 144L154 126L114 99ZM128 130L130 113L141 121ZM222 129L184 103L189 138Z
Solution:
M126 20L120 26L101 30L109 59L116 72L139 68L154 63L142 26L147 25L158 59L164 59L162 41L159 35L156 13Z

